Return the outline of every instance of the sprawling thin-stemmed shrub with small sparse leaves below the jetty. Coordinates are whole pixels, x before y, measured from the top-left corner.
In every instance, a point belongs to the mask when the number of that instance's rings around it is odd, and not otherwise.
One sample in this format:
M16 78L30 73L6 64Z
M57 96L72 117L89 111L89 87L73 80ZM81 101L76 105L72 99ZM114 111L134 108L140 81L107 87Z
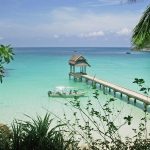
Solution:
M105 104L101 104L98 90L95 90L93 97L97 101L97 109L91 100L87 101L85 108L79 98L69 102L77 111L73 113L74 121L68 120L64 114L63 122L67 124L67 129L74 133L75 137L83 139L90 149L125 149L127 145L122 142L118 131L125 124L131 124L132 116L124 117L124 121L118 124L117 118L121 111L116 111L115 99L111 98Z

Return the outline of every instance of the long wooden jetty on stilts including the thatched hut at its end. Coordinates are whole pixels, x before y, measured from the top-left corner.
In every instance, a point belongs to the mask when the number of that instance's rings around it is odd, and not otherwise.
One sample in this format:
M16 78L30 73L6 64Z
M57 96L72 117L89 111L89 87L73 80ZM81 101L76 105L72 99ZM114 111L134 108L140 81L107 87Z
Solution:
M113 84L111 82L97 79L95 76L90 76L86 73L86 67L90 67L90 64L87 62L87 60L82 55L73 55L71 59L69 60L70 65L70 72L69 72L69 78L73 77L75 81L85 81L87 83L92 83L92 85L95 85L95 87L99 87L103 90L103 92L108 92L114 94L114 97L116 96L116 93L120 94L120 97L122 98L123 95L125 95L130 101L130 99L134 100L134 103L136 101L141 101L144 104L145 109L147 109L147 106L150 105L150 97L144 94L140 94L138 92L132 91L130 89L121 87L119 85ZM77 68L78 67L78 68ZM76 71L76 68L78 71Z

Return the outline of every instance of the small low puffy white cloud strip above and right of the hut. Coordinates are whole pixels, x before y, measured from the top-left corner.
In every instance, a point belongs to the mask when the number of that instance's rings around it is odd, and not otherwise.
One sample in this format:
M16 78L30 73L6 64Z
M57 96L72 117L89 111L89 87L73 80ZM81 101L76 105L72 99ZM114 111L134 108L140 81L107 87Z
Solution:
M101 37L101 36L104 36L103 31L94 31L94 32L80 34L80 37L82 38Z

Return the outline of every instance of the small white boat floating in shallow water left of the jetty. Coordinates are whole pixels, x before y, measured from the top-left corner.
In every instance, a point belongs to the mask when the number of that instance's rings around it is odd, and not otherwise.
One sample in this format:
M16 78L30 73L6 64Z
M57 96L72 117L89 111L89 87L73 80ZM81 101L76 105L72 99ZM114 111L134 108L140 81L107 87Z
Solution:
M56 98L85 97L85 92L73 90L72 87L56 87L54 91L48 91L48 96Z

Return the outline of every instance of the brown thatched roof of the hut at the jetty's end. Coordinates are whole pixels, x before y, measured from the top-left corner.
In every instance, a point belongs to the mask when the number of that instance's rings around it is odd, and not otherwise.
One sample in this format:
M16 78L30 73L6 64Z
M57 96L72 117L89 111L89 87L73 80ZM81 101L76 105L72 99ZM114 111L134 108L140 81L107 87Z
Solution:
M90 64L86 61L86 59L82 55L73 55L69 60L70 65L75 66L89 66Z

